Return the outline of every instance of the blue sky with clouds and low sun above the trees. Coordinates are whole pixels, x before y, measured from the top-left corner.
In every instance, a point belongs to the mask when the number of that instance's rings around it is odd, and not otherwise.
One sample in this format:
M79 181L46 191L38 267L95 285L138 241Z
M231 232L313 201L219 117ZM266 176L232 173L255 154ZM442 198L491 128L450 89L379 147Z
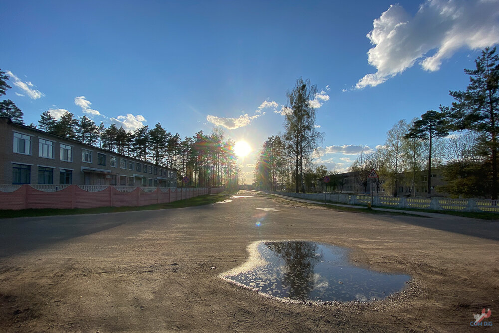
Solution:
M317 164L361 151L453 101L465 68L499 43L499 0L0 2L0 68L24 121L68 110L183 138L214 126L257 151L283 131L286 92L318 94Z

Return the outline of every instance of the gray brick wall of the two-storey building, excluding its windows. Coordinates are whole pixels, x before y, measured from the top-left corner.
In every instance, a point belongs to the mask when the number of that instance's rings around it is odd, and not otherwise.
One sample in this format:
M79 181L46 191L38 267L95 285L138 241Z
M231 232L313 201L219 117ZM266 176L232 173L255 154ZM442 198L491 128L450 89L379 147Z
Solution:
M14 151L14 133L29 138L29 151L26 153ZM51 157L40 156L40 140L52 142ZM71 147L72 161L61 159L61 145ZM75 185L177 187L177 171L174 169L12 123L5 117L0 117L0 147L0 184L12 184L13 165L21 164L30 166L29 184L39 183L40 168L52 168L54 185L60 183L60 170L63 169L71 170L71 184ZM91 162L83 161L83 150L91 152ZM100 161L104 163L99 164L98 154L105 156L105 162ZM111 166L111 157L116 158L116 166ZM125 168L121 168L121 159L126 161ZM130 169L130 162L133 162L133 170ZM137 163L141 166L140 171L137 171ZM144 172L144 166L147 166L147 172ZM113 184L114 179L116 184Z

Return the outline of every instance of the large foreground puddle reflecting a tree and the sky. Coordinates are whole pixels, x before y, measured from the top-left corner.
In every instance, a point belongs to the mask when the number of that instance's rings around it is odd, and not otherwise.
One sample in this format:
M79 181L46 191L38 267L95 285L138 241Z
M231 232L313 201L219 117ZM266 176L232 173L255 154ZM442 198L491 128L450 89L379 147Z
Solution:
M411 279L355 267L348 249L323 243L259 241L248 249L248 262L221 277L280 299L367 302L401 291Z

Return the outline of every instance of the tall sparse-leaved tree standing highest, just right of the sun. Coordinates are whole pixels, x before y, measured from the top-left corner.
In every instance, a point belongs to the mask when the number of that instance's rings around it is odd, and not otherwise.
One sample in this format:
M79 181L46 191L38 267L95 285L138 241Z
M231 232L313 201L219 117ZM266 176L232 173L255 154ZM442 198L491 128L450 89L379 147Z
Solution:
M315 109L310 101L315 98L317 87L310 84L310 80L299 78L293 90L287 92L289 102L288 112L284 117L284 141L290 156L295 174L296 193L303 186L303 168L306 160L310 159L317 141L322 139L315 130Z

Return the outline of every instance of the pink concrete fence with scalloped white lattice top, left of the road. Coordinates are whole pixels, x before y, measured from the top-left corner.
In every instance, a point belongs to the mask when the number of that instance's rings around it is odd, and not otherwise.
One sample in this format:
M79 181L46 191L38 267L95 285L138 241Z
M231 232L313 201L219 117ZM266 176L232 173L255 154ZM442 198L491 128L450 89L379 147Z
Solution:
M222 189L218 188L0 185L0 209L147 206L215 194L221 191Z

